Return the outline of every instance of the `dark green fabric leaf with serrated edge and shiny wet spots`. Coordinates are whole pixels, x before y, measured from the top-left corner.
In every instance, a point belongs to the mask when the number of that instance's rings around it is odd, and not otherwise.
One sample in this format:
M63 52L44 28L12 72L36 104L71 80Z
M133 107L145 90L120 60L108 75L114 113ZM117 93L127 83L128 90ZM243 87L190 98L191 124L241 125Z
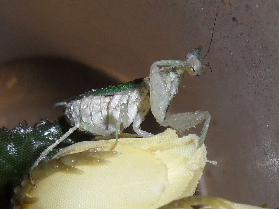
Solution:
M9 208L13 188L20 182L40 153L68 130L69 125L63 119L54 122L41 120L33 127L25 122L19 123L12 130L5 127L0 129L1 208ZM47 155L47 159L64 147L79 142L81 135L83 135L83 140L92 138L92 136L84 136L81 132L76 132L54 148Z

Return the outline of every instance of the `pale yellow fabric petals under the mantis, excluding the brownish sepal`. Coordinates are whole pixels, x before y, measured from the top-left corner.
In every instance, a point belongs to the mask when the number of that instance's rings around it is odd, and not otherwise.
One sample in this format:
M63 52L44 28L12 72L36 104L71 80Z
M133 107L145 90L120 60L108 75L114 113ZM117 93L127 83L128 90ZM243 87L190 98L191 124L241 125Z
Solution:
M109 151L114 142L80 142L57 155L71 157L94 147ZM118 139L114 150L119 154L100 155L104 163L75 166L82 174L65 169L47 176L23 194L38 201L21 208L158 208L193 195L206 163L205 146L196 149L197 143L197 135L179 138L172 129L150 138Z

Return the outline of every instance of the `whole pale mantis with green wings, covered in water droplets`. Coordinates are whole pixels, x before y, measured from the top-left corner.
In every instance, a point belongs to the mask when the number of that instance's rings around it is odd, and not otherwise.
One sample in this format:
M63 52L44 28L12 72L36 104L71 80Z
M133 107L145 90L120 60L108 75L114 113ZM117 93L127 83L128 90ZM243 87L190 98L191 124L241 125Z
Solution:
M217 15L215 21L216 18ZM214 26L215 22L213 31ZM212 38L213 32L211 42ZM203 65L201 63L199 58L201 50L201 46L193 48L186 55L185 61L160 60L154 62L150 67L150 75L148 77L116 86L93 89L57 103L56 106L64 106L64 114L72 128L56 140L54 144L47 147L33 164L30 169L30 180L33 186L35 184L32 179L32 171L39 164L42 157L47 155L78 128L81 131L101 136L115 134L117 140L118 134L133 123L134 132L141 137L153 136L152 133L140 128L141 122L150 109L158 124L163 127L172 127L179 132L189 130L189 128L205 120L198 143L198 148L201 147L210 123L208 111L177 113L165 118L172 98L178 92L178 86L184 75L186 73L190 76L202 76L205 74L203 68L209 66L209 64Z

